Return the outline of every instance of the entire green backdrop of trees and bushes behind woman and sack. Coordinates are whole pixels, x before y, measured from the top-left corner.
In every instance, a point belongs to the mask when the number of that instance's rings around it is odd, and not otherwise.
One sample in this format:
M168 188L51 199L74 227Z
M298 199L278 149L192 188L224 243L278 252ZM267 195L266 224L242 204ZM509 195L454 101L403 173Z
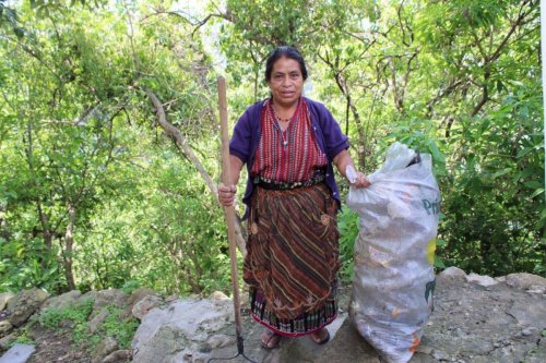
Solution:
M395 140L434 156L439 268L545 274L538 1L191 7L0 0L0 291L228 291L215 81L233 124L276 45L363 170ZM347 277L356 216L340 226Z

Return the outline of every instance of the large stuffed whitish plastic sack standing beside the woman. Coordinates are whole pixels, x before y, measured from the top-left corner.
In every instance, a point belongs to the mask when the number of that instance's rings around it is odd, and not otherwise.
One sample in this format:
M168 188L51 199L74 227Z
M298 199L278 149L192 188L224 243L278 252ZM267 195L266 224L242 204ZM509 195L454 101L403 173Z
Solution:
M360 217L349 314L388 362L401 363L412 358L432 311L440 191L430 155L419 158L395 143L384 166L369 177L370 186L347 196Z

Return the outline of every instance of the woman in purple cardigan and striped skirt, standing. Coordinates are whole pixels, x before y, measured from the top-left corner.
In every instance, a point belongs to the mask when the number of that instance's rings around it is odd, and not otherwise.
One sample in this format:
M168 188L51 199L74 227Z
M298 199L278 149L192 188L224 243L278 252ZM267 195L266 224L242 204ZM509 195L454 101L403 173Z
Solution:
M354 164L332 114L301 96L307 69L295 48L271 52L265 80L271 97L250 106L235 125L230 183L219 185L218 199L234 204L247 164L244 279L251 316L266 328L262 346L275 348L282 336L304 335L322 344L337 311L341 202L332 164L344 177ZM369 181L357 172L352 185L365 187Z

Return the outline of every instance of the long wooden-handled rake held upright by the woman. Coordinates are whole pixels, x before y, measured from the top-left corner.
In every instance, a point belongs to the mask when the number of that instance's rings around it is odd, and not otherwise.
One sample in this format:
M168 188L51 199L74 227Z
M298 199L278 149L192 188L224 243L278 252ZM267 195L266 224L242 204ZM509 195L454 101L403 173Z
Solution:
M229 185L232 181L232 169L229 166L229 136L227 130L227 101L226 101L226 80L218 77L218 108L219 108L219 126L222 132L222 182ZM240 298L239 298L239 278L237 274L237 245L235 241L235 207L224 207L226 223L227 223L227 238L229 240L229 259L232 262L232 285L234 289L234 312L235 312L235 329L237 334L237 355L222 359L213 358L209 362L217 360L230 360L238 355L242 355L247 361L254 362L245 355L245 344L242 339L242 327L240 320ZM256 362L254 362L256 363Z

